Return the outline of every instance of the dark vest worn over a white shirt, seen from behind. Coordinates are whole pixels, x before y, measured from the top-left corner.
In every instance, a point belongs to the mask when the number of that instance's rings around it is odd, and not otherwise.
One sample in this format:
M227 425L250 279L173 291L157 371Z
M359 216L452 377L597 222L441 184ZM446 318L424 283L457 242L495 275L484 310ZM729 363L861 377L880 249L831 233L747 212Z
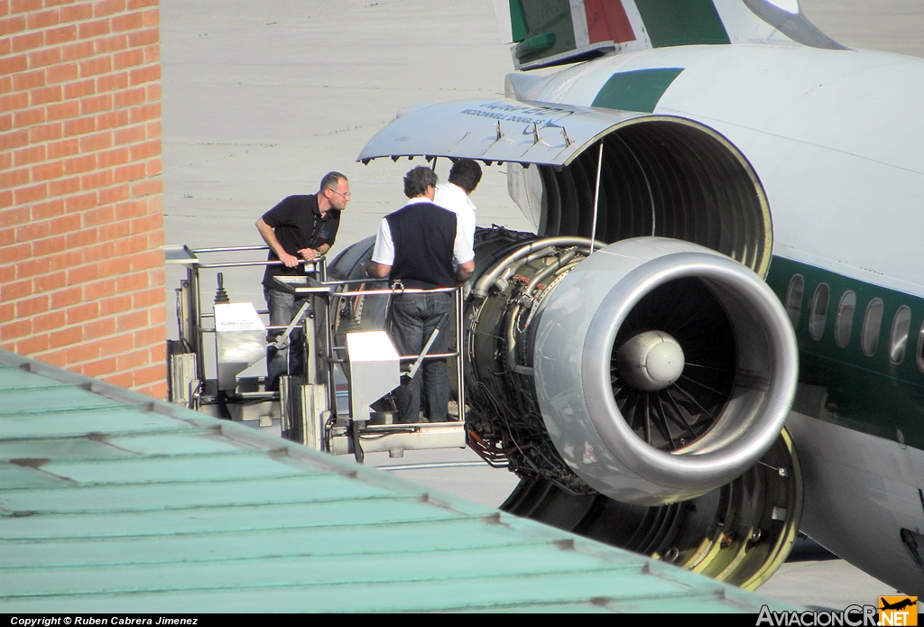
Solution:
M453 287L456 214L432 202L415 202L385 216L395 245L388 279L405 287Z

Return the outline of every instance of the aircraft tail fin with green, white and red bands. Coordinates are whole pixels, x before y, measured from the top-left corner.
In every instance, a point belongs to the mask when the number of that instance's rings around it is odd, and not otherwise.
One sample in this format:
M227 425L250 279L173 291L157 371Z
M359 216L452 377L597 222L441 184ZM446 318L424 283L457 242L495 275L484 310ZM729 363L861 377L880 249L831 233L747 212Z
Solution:
M492 0L517 69L645 48L802 43L843 49L798 0Z

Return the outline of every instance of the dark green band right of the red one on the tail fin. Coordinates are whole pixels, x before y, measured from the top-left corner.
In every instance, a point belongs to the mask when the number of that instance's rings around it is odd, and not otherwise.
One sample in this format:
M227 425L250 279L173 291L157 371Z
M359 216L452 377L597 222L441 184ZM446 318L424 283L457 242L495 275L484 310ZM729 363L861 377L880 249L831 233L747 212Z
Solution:
M653 48L730 43L712 0L636 0Z

